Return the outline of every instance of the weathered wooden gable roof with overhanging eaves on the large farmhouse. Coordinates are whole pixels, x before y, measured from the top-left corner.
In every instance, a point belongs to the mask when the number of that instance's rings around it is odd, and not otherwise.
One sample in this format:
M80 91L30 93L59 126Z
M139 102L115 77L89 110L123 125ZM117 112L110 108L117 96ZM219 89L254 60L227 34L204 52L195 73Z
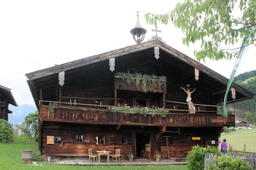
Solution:
M164 61L162 61L162 65L165 65L165 69L172 70L172 72L175 73L180 73L180 77L182 77L182 79L188 79L189 77L187 76L187 72L191 73L191 71L193 72L194 68L198 68L200 70L200 76L205 76L205 81L209 81L205 82L210 86L209 88L214 87L214 83L218 82L219 84L222 84L219 90L223 90L228 83L228 79L226 79L226 77L224 77L223 75L214 72L207 66L204 66L198 61L189 58L182 52L173 49L165 43L162 43L158 40L152 40L149 42L124 47L122 49L112 50L110 52L105 52L96 56L78 59L69 63L64 63L62 65L55 65L50 68L38 70L36 72L27 73L26 77L28 78L28 85L30 86L31 93L33 95L35 103L37 104L36 101L38 101L38 87L46 85L49 86L49 82L53 81L53 79L58 79L57 77L59 72L74 72L73 70L77 70L81 67L96 65L97 63L101 61L107 61L110 58L115 58L115 61L117 61L117 59L119 59L119 61L123 59L122 62L125 63L130 58L139 58L150 55L152 56L154 55L154 47L159 48L159 56L160 58L164 58ZM170 66L172 66L172 68ZM234 82L232 83L232 88L235 88L236 92L240 94L240 96L238 97L240 100L253 98L253 96L255 95L248 89L245 89L238 84L235 84Z

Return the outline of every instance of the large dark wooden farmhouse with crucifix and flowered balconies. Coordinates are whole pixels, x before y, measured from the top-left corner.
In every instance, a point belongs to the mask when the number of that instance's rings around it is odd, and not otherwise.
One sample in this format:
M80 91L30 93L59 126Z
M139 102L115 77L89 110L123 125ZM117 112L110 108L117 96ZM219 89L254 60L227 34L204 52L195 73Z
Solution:
M45 158L87 155L90 148L180 159L195 144L218 146L223 127L235 126L234 115L221 116L228 79L159 40L26 77L40 111ZM235 83L232 89L235 100L230 90L228 102L254 96Z

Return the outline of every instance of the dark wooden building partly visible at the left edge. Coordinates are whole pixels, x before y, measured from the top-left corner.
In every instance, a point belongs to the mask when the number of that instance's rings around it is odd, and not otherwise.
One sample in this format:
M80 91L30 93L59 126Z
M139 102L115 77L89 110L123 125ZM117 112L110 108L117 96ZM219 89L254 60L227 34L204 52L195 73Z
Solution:
M11 89L0 85L0 119L8 121L8 114L12 113L8 108L9 104L18 106L12 96Z

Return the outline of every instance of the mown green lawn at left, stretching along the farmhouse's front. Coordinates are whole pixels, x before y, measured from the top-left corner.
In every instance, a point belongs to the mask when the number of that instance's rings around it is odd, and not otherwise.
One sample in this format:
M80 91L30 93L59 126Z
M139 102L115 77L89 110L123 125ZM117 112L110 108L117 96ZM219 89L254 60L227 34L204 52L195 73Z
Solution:
M38 148L38 147L37 147ZM187 166L67 166L58 164L44 164L32 166L22 164L22 150L32 149L32 144L21 136L16 136L11 143L0 143L0 169L171 169L187 170ZM40 162L38 162L40 164Z

